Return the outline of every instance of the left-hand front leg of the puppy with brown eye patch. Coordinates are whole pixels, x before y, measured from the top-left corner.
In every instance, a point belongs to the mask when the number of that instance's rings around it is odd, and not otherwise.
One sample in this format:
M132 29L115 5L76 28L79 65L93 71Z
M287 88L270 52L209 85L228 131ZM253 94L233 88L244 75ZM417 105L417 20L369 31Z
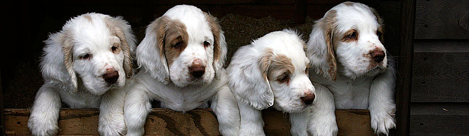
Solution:
M151 110L147 89L135 84L128 90L124 106L127 136L143 136L145 121Z

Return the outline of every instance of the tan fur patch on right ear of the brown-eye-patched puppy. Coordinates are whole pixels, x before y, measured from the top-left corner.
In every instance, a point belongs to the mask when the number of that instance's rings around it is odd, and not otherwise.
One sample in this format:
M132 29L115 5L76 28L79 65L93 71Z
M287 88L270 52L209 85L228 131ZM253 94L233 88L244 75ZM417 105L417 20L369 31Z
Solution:
M219 43L221 26L220 24L218 24L218 20L212 15L209 15L205 12L204 12L204 15L205 15L205 19L209 22L210 29L212 30L212 34L213 34L213 62L215 62L215 61L218 61L221 55L221 49L220 49L220 43Z

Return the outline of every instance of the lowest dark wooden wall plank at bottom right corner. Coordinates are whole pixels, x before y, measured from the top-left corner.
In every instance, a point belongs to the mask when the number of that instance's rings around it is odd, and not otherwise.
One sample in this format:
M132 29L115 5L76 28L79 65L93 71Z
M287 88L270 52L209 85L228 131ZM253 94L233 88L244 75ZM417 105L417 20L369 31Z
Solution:
M469 104L412 104L410 112L410 135L468 136Z

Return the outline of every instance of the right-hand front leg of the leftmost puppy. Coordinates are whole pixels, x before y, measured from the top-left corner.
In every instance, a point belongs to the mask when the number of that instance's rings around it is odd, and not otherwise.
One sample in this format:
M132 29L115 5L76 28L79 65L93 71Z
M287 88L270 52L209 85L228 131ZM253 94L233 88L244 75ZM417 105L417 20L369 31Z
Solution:
M125 136L127 133L124 119L124 99L126 89L108 90L101 97L99 107L99 127L101 136Z

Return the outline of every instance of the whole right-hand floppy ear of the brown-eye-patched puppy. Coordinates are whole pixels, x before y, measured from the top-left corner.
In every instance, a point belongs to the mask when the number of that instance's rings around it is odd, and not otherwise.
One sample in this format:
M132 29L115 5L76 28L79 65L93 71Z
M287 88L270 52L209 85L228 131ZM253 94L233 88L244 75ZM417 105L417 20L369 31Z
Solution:
M215 73L218 73L218 70L223 67L226 59L227 45L225 41L225 35L223 35L223 30L218 23L217 19L212 15L205 13L205 18L209 22L210 28L212 29L213 34L213 68ZM220 74L217 74L217 77Z

